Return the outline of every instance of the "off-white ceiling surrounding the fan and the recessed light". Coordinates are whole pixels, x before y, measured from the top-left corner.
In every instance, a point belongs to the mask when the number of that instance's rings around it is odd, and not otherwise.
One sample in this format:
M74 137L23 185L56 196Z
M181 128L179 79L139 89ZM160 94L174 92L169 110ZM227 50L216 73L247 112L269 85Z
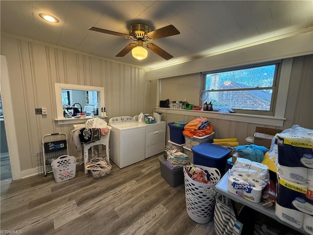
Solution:
M13 1L1 0L1 31L150 69L192 60L263 40L312 30L313 1ZM58 24L47 23L49 13ZM152 30L173 24L179 35L153 41L174 58L148 49L142 61L115 55L133 41L88 30L90 26L129 33L133 23ZM299 42L300 43L300 42Z

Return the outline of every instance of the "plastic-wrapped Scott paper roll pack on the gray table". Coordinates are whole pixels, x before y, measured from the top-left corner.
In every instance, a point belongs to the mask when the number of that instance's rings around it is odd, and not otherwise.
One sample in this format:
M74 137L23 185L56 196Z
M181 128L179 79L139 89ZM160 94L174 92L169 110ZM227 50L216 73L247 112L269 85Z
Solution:
M229 170L229 192L259 203L262 199L262 190L269 180L268 167L252 162L248 159L237 158L234 166Z

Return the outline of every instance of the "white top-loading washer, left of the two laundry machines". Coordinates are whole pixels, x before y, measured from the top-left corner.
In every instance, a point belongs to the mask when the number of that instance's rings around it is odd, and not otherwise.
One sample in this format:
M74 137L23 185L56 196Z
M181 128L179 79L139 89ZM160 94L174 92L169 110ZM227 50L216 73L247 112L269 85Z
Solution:
M110 159L119 167L138 163L145 159L146 127L132 117L109 119Z

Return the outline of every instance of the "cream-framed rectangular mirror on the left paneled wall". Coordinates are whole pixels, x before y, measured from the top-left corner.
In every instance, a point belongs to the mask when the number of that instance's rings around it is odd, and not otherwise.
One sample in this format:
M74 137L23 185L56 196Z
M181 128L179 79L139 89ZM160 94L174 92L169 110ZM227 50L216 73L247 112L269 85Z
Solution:
M101 115L105 107L104 88L55 83L55 101L57 108L56 120L74 118L77 113L85 113L87 117Z

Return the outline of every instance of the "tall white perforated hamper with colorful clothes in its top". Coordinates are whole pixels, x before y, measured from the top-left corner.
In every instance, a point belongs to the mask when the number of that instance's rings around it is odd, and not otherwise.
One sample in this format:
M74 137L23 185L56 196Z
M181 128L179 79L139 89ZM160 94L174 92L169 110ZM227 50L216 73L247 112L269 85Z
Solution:
M188 165L190 166L190 165ZM199 224L206 224L210 221L215 205L215 185L220 181L221 173L217 168L207 167L203 165L192 165L199 167L210 174L211 184L202 184L194 181L187 174L185 167L184 182L186 209L188 216Z

